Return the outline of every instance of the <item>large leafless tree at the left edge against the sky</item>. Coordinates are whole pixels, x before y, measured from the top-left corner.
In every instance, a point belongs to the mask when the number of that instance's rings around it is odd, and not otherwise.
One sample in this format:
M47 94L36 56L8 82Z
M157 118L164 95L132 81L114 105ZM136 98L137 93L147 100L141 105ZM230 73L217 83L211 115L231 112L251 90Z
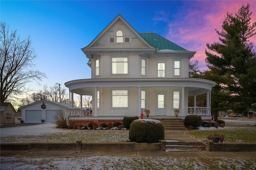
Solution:
M9 32L6 23L0 23L0 101L11 101L17 95L28 92L26 84L42 80L46 75L33 70L37 55L30 37L20 39L17 31Z

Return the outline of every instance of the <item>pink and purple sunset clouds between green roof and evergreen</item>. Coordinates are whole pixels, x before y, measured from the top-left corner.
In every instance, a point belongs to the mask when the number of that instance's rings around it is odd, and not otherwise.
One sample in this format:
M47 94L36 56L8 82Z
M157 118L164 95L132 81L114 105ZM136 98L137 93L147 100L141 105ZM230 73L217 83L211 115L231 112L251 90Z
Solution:
M251 23L256 21L256 1L196 1L192 7L186 6L186 15L182 20L171 22L168 29L171 30L165 36L170 41L177 43L189 51L197 51L192 60L198 60L201 69L206 69L204 50L206 43L218 41L215 29L221 31L222 23L228 13L233 15L244 4L250 4ZM190 4L191 5L191 4ZM193 9L196 6L196 9ZM256 35L250 38L256 49Z

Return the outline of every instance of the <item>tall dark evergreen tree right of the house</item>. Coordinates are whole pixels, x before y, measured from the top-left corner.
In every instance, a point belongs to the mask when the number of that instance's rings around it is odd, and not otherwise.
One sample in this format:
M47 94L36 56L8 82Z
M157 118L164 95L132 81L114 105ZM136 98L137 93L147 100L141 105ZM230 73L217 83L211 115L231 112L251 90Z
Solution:
M251 15L250 4L235 15L227 13L222 31L216 30L219 42L207 43L205 51L215 90L230 94L230 102L243 106L241 110L256 103L256 54L249 42L256 34L256 22L251 23Z

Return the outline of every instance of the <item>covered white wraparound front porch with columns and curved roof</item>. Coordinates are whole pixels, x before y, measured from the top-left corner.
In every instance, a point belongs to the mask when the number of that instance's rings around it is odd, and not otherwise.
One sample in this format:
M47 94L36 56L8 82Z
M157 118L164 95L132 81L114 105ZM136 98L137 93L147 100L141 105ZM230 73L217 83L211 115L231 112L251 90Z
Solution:
M150 109L151 118L174 118L174 109L179 109L179 118L184 119L186 115L211 116L210 91L215 83L198 78L118 78L73 80L66 82L65 85L70 90L70 119L140 117L141 113L145 114L144 109ZM120 100L127 100L127 105L112 107L114 90L127 91L127 97L120 97ZM92 96L93 106L74 109L74 93L80 95L80 101L83 95ZM206 107L197 107L196 96L204 93ZM194 96L194 107L188 107L188 96Z

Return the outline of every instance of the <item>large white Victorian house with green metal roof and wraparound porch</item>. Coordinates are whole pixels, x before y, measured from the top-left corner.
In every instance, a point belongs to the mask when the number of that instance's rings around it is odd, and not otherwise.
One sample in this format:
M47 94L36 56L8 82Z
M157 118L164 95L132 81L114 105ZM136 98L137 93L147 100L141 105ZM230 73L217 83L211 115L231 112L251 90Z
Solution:
M89 59L91 79L72 80L65 86L71 102L74 93L81 98L90 95L93 106L91 116L72 107L69 121L116 121L140 117L144 109L150 109L153 119L174 118L174 109L180 110L182 119L189 114L211 119L210 92L216 83L189 78L189 59L196 52L156 33L138 33L120 15L82 51ZM196 107L196 96L204 93L207 106ZM188 96L194 96L194 107L188 107Z

